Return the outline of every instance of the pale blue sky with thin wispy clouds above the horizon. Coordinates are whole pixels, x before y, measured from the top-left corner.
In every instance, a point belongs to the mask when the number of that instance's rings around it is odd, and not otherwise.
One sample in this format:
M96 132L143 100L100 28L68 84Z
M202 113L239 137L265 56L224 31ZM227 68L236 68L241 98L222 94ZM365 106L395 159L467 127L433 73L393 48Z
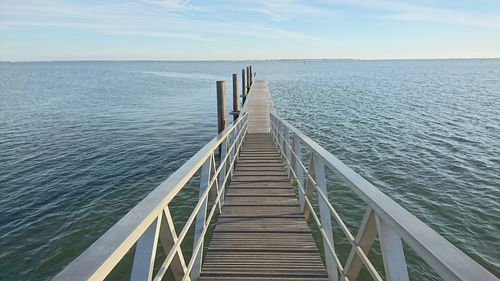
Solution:
M499 0L0 0L0 60L500 57Z

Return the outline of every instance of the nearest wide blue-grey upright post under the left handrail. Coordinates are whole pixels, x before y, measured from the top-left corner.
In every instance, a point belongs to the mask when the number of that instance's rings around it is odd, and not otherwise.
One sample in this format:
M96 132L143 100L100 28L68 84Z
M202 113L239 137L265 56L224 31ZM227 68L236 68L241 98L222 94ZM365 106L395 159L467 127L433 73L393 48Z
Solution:
M153 277L160 220L161 216L158 216L137 241L130 276L132 281L151 280Z

